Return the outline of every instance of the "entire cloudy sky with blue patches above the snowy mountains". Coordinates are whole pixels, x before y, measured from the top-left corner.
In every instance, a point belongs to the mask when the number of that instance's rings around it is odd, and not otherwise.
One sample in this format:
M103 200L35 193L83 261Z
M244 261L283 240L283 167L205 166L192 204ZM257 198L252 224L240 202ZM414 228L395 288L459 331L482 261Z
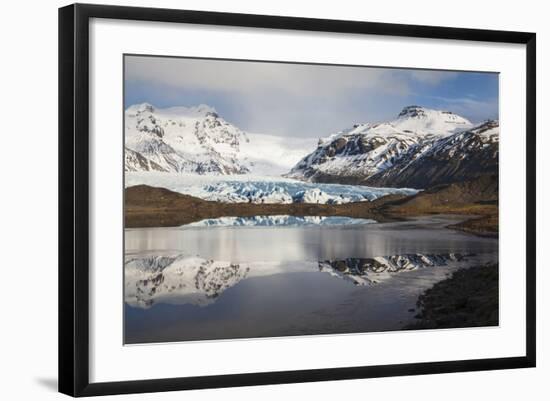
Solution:
M124 102L202 103L250 132L322 137L412 104L473 122L498 118L498 75L126 56Z

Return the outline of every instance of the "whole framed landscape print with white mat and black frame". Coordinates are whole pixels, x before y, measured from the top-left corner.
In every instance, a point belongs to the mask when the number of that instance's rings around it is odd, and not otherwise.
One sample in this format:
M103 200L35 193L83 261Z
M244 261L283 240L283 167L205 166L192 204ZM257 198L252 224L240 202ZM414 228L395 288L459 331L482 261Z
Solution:
M60 391L535 366L535 82L534 33L61 8Z

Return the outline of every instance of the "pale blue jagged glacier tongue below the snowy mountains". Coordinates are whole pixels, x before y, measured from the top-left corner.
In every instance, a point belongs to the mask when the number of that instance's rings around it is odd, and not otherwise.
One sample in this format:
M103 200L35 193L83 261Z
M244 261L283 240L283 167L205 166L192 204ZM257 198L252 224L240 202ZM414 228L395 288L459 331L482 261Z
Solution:
M166 188L204 200L228 203L342 204L373 201L382 196L414 195L416 189L373 188L361 185L315 184L273 176L212 176L166 172L126 172L125 187Z

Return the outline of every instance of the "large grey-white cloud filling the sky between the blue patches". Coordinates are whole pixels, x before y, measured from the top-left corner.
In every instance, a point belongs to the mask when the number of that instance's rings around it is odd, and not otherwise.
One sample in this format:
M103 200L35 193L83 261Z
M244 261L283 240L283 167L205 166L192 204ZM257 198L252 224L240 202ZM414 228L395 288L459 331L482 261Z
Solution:
M434 88L457 76L446 71L171 57L128 56L125 61L128 83L160 88L157 92L164 99L188 94L191 103L182 104L187 106L196 104L192 93L209 93L219 103L212 106L241 128L285 136L326 136L357 122L391 119L414 96L413 86ZM465 102L457 107L465 108Z

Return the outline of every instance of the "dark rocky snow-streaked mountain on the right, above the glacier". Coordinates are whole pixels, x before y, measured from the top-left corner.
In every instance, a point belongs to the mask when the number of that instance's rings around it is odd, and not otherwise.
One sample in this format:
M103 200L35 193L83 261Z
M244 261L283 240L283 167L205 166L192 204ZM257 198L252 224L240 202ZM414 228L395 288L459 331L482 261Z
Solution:
M496 172L498 134L496 121L475 126L449 111L408 106L393 121L357 124L319 140L317 149L287 176L312 182L426 188L475 178L480 168Z

